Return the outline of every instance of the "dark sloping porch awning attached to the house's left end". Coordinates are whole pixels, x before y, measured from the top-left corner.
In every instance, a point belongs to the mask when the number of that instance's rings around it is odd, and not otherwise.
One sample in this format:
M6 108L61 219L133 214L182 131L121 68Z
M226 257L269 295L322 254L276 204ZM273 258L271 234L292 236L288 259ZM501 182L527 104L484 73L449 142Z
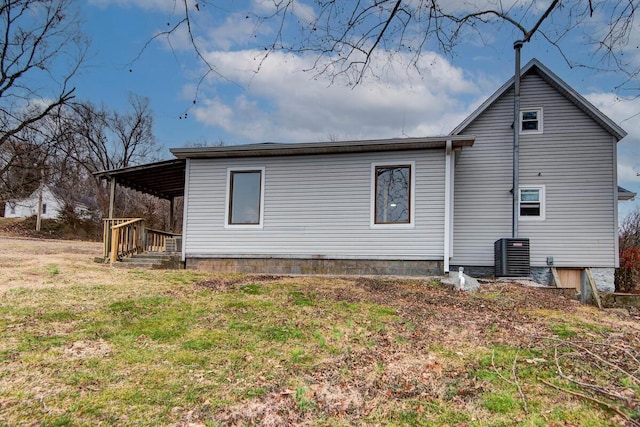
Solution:
M185 164L184 159L175 159L100 171L94 175L107 180L115 179L124 187L171 200L184 196Z

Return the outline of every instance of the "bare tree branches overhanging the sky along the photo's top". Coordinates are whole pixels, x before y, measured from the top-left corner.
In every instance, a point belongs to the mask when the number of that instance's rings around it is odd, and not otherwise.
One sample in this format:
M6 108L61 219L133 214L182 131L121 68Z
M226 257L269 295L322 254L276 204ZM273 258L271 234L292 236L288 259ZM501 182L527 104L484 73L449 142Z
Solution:
M199 41L200 31L206 29L199 28L196 19L205 9L219 6L211 0L174 3L179 19L154 39L186 30L207 74L220 75L206 59ZM571 67L622 72L624 78L616 88L640 91L638 64L633 55L625 56L637 49L629 43L638 31L635 17L640 0L263 0L259 4L261 12L246 11L246 19L254 22L256 34L275 35L263 47L258 63L274 51L311 53L316 55L312 71L346 77L347 84L358 84L373 72L372 60L379 51L389 61L406 54L412 58L410 64L420 69L426 50L453 55L469 40L484 43L494 34L511 30L511 42L528 42L537 35ZM566 48L565 42L576 37L591 45L589 62Z

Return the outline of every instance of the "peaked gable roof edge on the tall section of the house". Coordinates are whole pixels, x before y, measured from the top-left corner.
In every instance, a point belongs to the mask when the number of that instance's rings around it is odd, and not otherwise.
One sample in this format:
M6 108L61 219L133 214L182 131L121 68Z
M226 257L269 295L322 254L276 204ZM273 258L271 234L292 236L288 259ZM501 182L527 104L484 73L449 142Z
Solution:
M593 104L587 101L582 95L576 92L571 86L564 82L560 77L548 69L537 59L532 59L520 71L522 77L528 74L537 74L548 84L553 86L558 92L571 101L576 107L586 113L589 117L595 120L600 126L607 130L611 135L616 137L618 141L627 135L620 126L618 126L613 120L607 117L602 111L598 110ZM469 117L467 117L462 123L460 123L454 130L451 131L452 135L458 135L463 132L475 119L478 118L485 110L487 110L494 102L502 97L507 91L509 91L514 85L515 77L511 77L509 81L503 84L493 95L491 95L485 102L480 105Z

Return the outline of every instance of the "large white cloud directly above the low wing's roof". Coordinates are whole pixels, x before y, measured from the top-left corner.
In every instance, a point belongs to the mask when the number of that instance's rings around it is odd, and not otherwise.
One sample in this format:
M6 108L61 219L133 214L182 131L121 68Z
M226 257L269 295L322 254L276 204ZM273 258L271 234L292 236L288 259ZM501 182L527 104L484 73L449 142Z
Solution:
M272 53L256 73L261 55L208 56L223 75L246 87L233 98L201 97L194 110L200 122L232 135L228 143L445 134L466 116L459 97L478 95L461 69L433 53L421 59L420 74L406 67L409 58L396 55L384 81L369 77L355 87L331 85L325 76L300 71L312 67L312 56Z

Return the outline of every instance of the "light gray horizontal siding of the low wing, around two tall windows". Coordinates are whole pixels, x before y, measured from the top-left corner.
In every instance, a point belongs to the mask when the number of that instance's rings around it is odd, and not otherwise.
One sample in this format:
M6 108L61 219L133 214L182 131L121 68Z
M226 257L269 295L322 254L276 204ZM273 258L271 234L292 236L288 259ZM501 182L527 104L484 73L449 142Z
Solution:
M190 159L185 257L442 260L444 150ZM370 227L371 164L415 162L415 227ZM225 228L227 168L264 167L262 229Z

